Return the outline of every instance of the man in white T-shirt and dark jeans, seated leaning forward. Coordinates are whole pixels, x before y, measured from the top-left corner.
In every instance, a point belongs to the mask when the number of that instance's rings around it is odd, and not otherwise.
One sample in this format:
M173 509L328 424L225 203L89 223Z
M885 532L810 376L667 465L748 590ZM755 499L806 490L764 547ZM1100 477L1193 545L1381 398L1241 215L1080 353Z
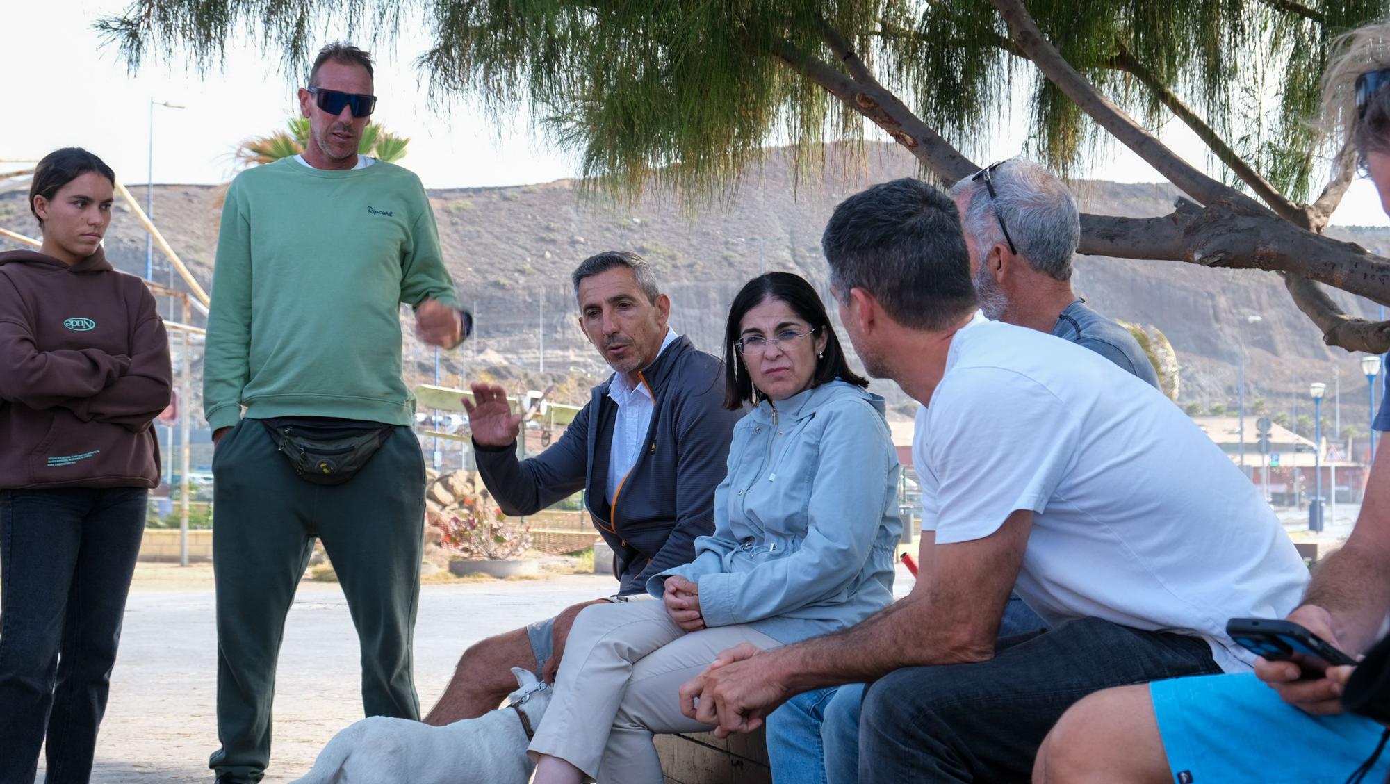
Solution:
M1250 669L1226 619L1287 612L1308 570L1182 410L1095 352L986 320L956 207L924 182L851 196L823 246L865 368L924 406L923 578L847 631L720 653L681 687L687 716L748 731L794 694L870 683L859 781L1016 781L1087 694ZM998 637L1015 585L1047 631Z

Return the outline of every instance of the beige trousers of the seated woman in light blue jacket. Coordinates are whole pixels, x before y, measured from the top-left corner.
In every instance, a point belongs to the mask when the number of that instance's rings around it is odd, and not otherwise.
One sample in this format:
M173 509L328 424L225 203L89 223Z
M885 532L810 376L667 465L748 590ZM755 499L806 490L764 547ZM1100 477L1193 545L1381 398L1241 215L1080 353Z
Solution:
M781 645L748 626L685 632L660 601L585 607L527 751L564 759L603 784L660 784L652 734L713 728L681 713L680 688L739 642Z

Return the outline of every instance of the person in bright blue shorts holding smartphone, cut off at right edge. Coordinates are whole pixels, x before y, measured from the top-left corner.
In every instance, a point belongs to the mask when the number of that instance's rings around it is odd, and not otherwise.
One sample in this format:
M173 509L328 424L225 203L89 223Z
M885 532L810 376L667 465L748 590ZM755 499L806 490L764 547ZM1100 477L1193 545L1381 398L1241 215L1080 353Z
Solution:
M1390 214L1390 19L1347 33L1334 50L1323 107ZM1386 392L1373 423L1382 432L1390 430L1390 382ZM1302 603L1286 619L1297 627L1273 635L1276 646L1291 648L1287 655L1258 659L1254 674L1159 681L1083 699L1052 728L1033 780L1384 781L1390 728L1347 713L1340 699L1357 666L1329 666L1325 656L1298 651L1320 641L1357 660L1387 613L1390 449L1382 448L1351 537L1314 570ZM1248 621L1236 619L1232 628Z

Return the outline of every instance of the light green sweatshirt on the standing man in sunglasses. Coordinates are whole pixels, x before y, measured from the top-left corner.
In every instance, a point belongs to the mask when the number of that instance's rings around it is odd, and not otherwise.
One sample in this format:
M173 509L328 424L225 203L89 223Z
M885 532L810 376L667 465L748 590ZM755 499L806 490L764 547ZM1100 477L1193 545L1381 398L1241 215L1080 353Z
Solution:
M215 431L320 416L409 425L400 304L457 307L420 179L377 161L325 171L295 158L243 171L222 209L203 359Z

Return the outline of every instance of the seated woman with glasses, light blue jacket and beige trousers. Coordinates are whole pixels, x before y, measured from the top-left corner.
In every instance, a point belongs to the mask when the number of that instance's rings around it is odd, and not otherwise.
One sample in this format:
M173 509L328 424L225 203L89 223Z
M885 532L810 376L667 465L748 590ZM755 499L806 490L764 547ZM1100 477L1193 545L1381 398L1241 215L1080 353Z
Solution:
M660 601L580 613L530 746L537 784L659 784L652 734L712 728L681 713L678 692L721 651L828 634L892 601L897 450L810 284L749 281L724 366L724 405L753 409L734 427L714 535L648 582Z

